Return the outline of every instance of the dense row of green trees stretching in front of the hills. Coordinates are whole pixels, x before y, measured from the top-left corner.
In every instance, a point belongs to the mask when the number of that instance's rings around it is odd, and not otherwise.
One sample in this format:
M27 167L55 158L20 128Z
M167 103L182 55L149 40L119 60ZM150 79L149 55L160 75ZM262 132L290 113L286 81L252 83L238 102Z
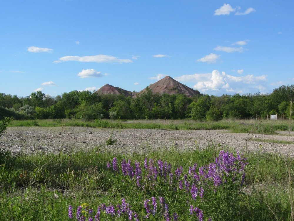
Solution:
M225 118L266 118L278 114L290 116L294 85L275 88L270 94L186 95L153 94L151 89L132 98L90 91L71 91L56 97L41 91L26 97L0 93L0 107L16 118L112 119L184 119L216 121ZM1 116L2 113L2 116ZM4 118L0 112L0 118ZM5 112L7 115L7 112Z

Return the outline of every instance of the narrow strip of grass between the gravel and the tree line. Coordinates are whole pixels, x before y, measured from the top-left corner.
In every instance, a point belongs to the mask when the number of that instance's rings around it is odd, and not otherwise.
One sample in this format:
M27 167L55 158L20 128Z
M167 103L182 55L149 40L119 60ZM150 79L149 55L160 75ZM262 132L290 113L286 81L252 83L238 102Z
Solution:
M292 131L294 121L279 120L133 120L82 121L71 119L22 120L12 121L11 126L85 126L97 128L134 128L134 129L167 129L167 130L230 130L233 133L275 134L275 131Z

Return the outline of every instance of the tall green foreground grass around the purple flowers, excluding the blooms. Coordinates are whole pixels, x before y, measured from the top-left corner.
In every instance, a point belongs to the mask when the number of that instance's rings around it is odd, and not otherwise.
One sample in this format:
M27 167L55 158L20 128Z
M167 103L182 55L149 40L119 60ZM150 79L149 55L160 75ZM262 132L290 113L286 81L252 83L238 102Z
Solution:
M160 214L146 218L143 202L160 196L168 202L170 212L178 212L179 220L198 220L189 214L189 205L203 210L204 220L210 217L213 220L290 219L285 156L244 153L249 164L245 166L243 186L236 178L238 182L223 182L216 192L205 189L203 200L198 196L194 201L190 193L178 189L179 180L175 177L171 186L159 176L154 185L142 179L141 184L146 182L145 187L137 187L136 180L123 176L121 169L114 171L112 167L108 168L107 162L111 163L115 157L120 166L123 159L130 159L133 166L137 161L143 169L145 158L156 164L162 160L172 165L172 171L183 166L183 174L188 174L189 166L194 163L200 168L215 162L220 147L208 146L204 150L188 152L175 147L161 147L156 151L132 155L102 152L102 148L72 154L0 155L1 220L69 220L69 205L76 211L82 203L89 203L96 211L102 203L117 205L122 199L126 199L132 210L140 215L139 220L166 220ZM232 149L225 151L237 156ZM293 158L287 160L293 162ZM294 170L293 163L290 170ZM180 179L184 180L183 174ZM126 220L126 217L104 215L104 220L115 219Z

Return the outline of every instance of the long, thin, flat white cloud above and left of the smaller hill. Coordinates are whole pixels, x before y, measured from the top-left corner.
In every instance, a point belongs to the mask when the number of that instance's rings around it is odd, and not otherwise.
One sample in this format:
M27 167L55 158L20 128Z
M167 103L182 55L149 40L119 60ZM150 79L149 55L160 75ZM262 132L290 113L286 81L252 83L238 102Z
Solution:
M92 55L92 56L64 56L59 61L79 61L79 62L97 62L97 63L132 63L130 59L119 59L109 55ZM58 61L54 61L58 63Z

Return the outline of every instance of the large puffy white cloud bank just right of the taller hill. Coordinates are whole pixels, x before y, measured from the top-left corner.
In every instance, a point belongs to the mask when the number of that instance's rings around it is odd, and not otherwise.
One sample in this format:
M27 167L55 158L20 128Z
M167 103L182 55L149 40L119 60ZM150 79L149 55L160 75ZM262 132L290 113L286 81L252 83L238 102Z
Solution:
M194 83L193 88L201 93L207 94L233 94L233 93L255 93L257 89L261 93L268 92L265 83L266 75L233 76L225 72L213 70L211 73L183 75L175 77L179 82Z

